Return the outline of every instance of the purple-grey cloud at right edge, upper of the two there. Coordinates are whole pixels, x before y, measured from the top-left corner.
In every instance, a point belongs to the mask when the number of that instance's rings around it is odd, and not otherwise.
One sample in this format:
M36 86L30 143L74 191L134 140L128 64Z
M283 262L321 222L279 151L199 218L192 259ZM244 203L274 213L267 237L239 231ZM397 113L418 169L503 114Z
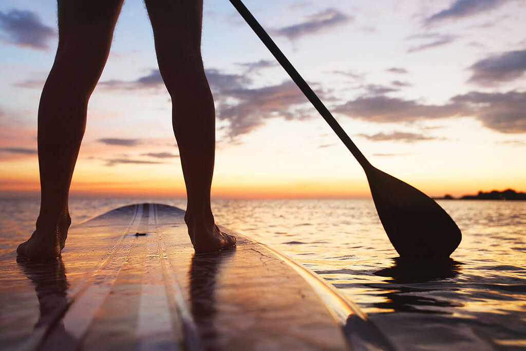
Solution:
M520 78L526 72L526 50L508 51L481 59L469 67L473 75L468 82L494 85Z

